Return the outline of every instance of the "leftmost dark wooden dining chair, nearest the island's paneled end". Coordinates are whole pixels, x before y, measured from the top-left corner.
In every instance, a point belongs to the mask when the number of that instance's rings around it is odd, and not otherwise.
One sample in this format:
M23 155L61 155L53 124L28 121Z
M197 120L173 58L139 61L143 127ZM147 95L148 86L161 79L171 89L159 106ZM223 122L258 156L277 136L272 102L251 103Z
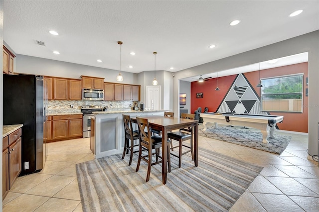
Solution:
M124 133L125 133L124 150L123 150L122 159L124 159L125 153L128 154L129 151L131 151L130 162L129 162L129 166L131 166L133 153L139 152L139 150L134 151L134 147L140 145L139 143L138 144L134 144L135 140L139 140L140 139L139 130L133 130L130 115L122 114L122 116L123 116Z

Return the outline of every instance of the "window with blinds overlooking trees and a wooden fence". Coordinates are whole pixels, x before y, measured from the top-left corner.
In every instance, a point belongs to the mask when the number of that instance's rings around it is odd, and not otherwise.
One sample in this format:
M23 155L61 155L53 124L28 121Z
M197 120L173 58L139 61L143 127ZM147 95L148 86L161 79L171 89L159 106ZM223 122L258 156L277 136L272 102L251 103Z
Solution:
M262 79L261 111L303 112L304 74Z

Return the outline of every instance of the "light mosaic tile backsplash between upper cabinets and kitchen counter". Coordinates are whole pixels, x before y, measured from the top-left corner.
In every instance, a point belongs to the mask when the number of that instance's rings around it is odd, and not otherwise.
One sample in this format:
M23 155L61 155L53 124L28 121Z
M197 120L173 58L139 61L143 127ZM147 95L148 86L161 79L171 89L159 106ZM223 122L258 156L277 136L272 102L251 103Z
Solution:
M72 101L72 100L48 100L48 110L65 109L69 112L80 112L81 106L108 106L108 110L129 109L137 102L132 101ZM71 108L73 105L73 108ZM110 107L110 105L112 105ZM131 107L130 107L131 105Z

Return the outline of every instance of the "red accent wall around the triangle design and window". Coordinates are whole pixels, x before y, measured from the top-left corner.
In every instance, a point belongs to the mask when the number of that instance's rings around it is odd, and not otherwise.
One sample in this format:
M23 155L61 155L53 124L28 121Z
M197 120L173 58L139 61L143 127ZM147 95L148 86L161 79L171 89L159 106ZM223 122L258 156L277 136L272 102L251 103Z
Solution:
M270 112L271 115L283 115L283 123L279 123L278 127L282 130L308 132L308 97L306 97L306 78L308 77L308 62L299 63L289 66L282 66L272 69L260 71L260 78L269 78L290 74L304 73L304 96L303 96L303 113L293 112ZM259 71L244 73L248 82L252 85L258 96L260 97L260 88L256 88L259 83ZM210 112L215 112L221 104L225 95L228 93L236 75L218 78L218 87L220 91L215 91L217 87L217 79L210 79L202 83L192 82L191 88L191 113L201 107L202 111L207 106ZM203 93L202 99L196 98L196 93Z

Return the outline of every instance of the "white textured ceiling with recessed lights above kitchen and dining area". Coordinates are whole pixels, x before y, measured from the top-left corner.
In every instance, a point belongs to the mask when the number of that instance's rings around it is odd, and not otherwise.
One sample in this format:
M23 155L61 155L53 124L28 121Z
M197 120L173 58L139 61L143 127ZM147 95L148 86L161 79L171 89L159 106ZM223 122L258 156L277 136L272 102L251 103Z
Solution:
M318 0L4 0L3 10L17 54L119 70L120 40L121 70L133 73L154 70L154 51L156 70L176 72L319 29Z

